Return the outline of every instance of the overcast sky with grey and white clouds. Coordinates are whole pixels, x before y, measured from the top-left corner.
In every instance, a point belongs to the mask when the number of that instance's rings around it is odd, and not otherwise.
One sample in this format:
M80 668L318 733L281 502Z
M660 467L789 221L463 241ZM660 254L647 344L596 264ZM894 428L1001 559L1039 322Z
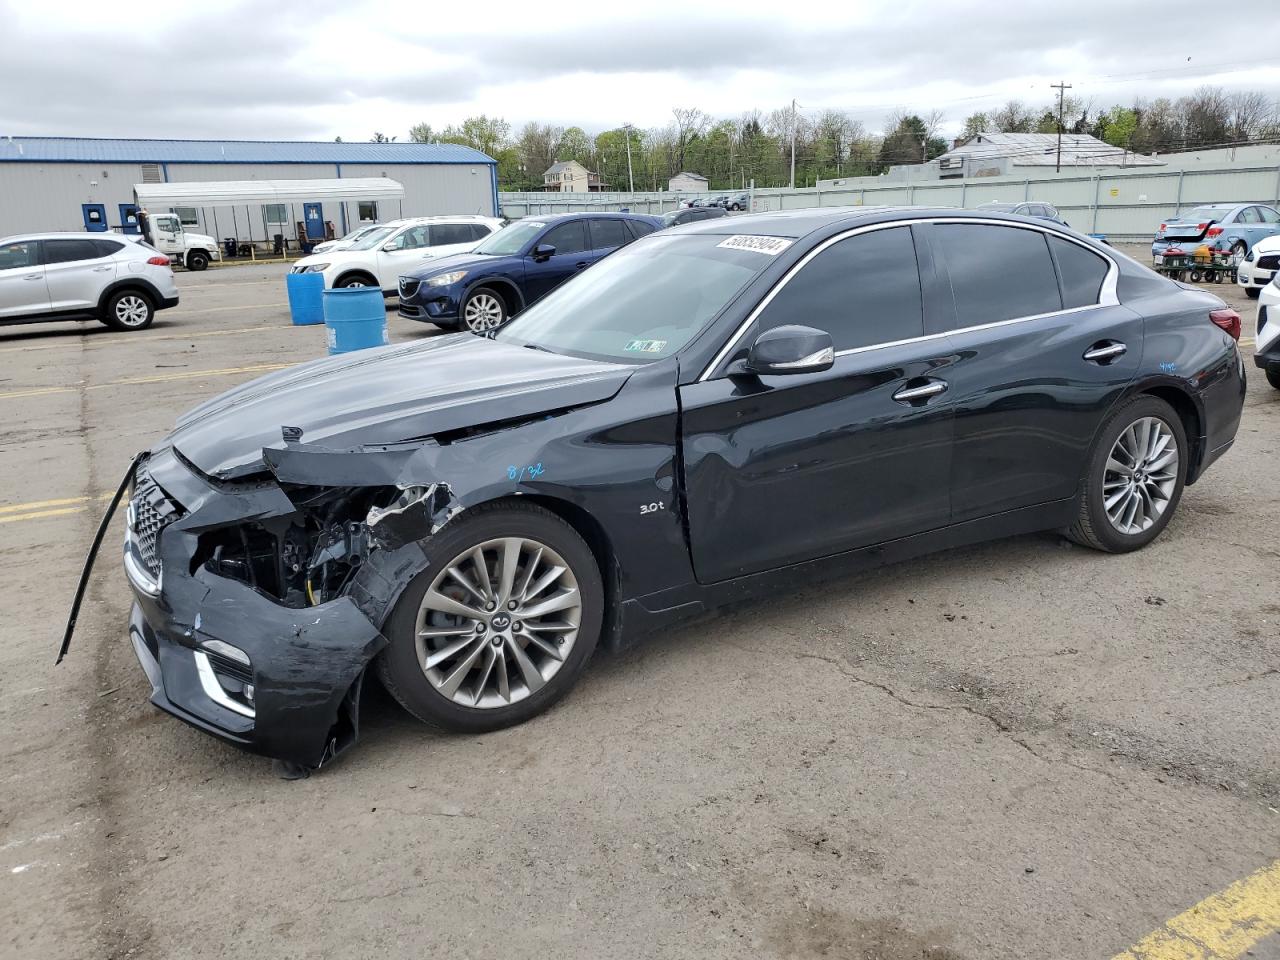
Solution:
M673 106L739 116L791 97L873 131L897 108L938 108L955 132L1010 99L1048 102L1059 79L1098 106L1202 83L1280 96L1267 4L823 6L0 0L0 134L406 140L413 123L479 113L595 133L663 125Z

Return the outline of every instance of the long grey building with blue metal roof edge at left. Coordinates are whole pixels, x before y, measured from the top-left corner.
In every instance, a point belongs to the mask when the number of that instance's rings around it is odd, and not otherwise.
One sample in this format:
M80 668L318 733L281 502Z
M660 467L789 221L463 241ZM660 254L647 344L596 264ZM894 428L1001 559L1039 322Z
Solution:
M497 215L493 157L458 143L100 140L0 136L0 237L41 230L132 232L137 183L333 180L385 177L404 198L174 207L219 241L293 238L303 216L338 236L361 223L434 214ZM157 211L152 211L157 212Z

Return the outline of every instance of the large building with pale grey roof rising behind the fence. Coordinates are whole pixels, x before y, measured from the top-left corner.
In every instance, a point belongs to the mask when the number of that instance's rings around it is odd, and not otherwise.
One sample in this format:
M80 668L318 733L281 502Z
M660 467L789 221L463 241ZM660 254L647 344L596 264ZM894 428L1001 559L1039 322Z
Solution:
M956 143L925 166L933 166L938 179L960 177L1004 177L1016 173L1044 173L1059 163L1065 168L1164 166L1162 160L1114 147L1083 133L1064 133L1059 160L1056 133L979 133Z

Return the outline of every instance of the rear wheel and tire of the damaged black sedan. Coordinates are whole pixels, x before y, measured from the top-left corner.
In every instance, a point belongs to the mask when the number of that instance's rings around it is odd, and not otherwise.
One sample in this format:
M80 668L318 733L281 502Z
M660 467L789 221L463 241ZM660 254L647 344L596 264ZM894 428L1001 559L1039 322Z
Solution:
M1107 553L1137 550L1169 525L1187 479L1187 433L1158 397L1134 397L1103 424L1068 536Z

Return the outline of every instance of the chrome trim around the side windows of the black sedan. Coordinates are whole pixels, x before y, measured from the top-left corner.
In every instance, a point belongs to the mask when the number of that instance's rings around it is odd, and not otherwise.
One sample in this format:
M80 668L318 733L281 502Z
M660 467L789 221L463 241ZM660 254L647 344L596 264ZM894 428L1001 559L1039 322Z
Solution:
M733 352L733 349L739 346L740 340L746 334L746 332L751 329L751 324L754 324L759 319L760 314L764 312L764 308L773 302L773 298L778 294L778 292L783 287L786 287L791 282L791 278L794 278L797 273L800 273L809 264L810 260L813 260L815 256L823 252L827 247L838 243L842 239L847 239L849 237L856 237L859 234L872 233L874 230L887 230L895 227L910 227L913 224L932 225L932 224L952 224L952 223L980 224L984 227L1010 227L1016 230L1033 230L1036 233L1041 233L1047 237L1057 237L1060 239L1068 241L1069 243L1074 243L1078 247L1083 247L1094 256L1105 260L1107 264L1107 275L1102 279L1102 287L1098 291L1098 302L1085 303L1084 306L1080 307L1065 307L1062 310L1052 310L1047 314L1032 314L1029 316L1010 317L1009 320L995 320L989 324L959 326L955 330L946 330L942 333L927 333L923 337L909 337L902 340L887 340L884 343L873 343L867 347L850 347L847 349L836 351L837 357L845 357L851 353L867 353L873 349L886 349L887 347L901 347L908 343L924 343L927 340L938 340L945 337L954 337L956 334L973 333L977 330L989 330L996 326L1009 326L1010 324L1025 324L1030 323L1032 320L1043 320L1051 316L1065 316L1068 314L1078 314L1082 310L1093 310L1094 307L1114 307L1120 305L1120 297L1116 292L1117 285L1120 283L1120 266L1116 264L1116 261L1112 260L1106 253L1103 253L1102 251L1096 250L1088 243L1084 243L1083 241L1076 239L1075 237L1070 237L1065 233L1059 233L1057 230L1041 227L1039 224L1023 224L1023 223L1014 223L1011 220L995 220L980 216L934 216L934 218L914 218L910 220L887 220L884 223L868 224L867 227L855 227L842 233L837 233L833 237L828 237L817 247L805 253L804 257L792 264L791 269L787 270L786 274L783 274L782 279L778 280L776 284L773 284L773 288L764 296L764 300L756 303L755 307L751 310L751 312L748 314L746 320L744 320L741 325L739 325L737 330L733 332L733 335L724 342L724 346L721 347L721 349L716 353L714 357L712 357L710 364L708 364L703 369L703 372L699 374L698 379L694 383L703 383L704 380L712 379L712 374L716 371L716 369L724 362L724 360L728 357L731 352Z

